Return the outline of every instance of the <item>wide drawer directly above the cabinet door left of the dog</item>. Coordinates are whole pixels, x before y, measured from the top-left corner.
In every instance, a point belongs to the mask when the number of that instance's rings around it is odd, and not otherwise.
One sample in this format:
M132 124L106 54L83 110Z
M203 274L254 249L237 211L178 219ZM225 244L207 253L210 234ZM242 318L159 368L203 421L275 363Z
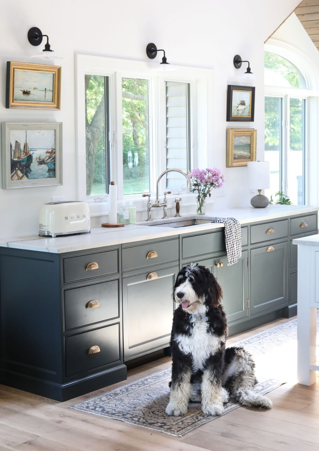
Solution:
M154 266L179 259L178 238L122 249L122 271Z

